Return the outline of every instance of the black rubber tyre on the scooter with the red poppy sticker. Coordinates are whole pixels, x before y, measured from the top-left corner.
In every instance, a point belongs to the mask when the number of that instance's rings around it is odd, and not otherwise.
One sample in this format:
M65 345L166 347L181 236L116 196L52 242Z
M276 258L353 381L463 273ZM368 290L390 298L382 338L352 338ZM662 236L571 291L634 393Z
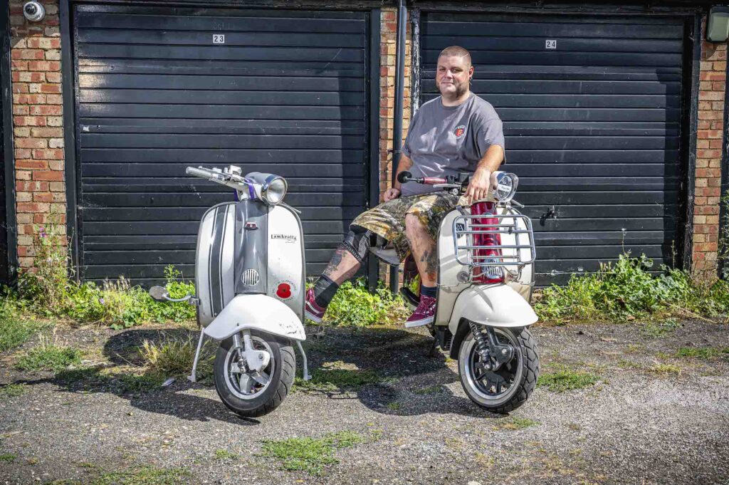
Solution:
M296 374L296 357L291 341L254 330L251 332L251 337L254 341L265 342L270 347L271 360L267 368L273 367L273 374L265 389L246 399L238 397L236 392L230 389L225 376L227 355L233 346L233 337L220 343L213 366L215 389L220 399L227 408L245 418L263 416L278 408L289 393Z

